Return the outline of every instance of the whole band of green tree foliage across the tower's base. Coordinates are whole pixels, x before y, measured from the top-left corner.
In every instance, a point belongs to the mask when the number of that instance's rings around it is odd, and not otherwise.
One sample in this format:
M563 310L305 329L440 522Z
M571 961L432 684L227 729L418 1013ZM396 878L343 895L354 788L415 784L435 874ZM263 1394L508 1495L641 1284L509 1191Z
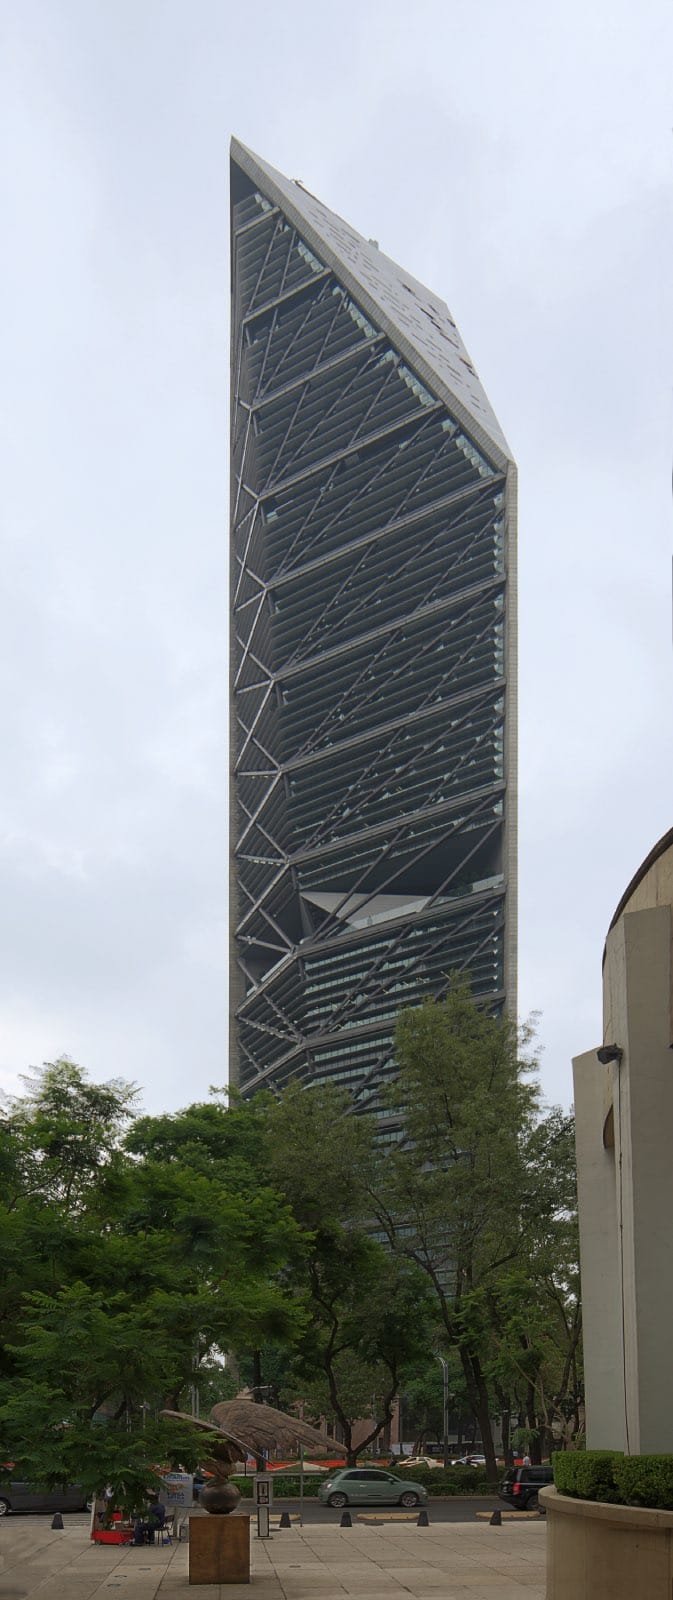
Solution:
M515 1418L532 1454L577 1435L572 1117L540 1107L529 1034L462 982L400 1013L396 1061L385 1142L329 1086L150 1117L67 1059L26 1078L0 1114L3 1459L54 1482L86 1458L91 1490L121 1435L137 1472L187 1462L160 1411L227 1398L237 1363L350 1461L400 1394L438 1430L436 1355L492 1478L496 1416L505 1450Z

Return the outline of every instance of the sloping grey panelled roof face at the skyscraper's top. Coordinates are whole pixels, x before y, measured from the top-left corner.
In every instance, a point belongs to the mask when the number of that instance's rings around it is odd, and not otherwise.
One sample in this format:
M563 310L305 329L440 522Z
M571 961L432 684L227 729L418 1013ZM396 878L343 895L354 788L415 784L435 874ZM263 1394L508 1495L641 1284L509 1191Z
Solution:
M238 139L232 139L232 162L280 206L494 466L505 469L512 451L444 301Z

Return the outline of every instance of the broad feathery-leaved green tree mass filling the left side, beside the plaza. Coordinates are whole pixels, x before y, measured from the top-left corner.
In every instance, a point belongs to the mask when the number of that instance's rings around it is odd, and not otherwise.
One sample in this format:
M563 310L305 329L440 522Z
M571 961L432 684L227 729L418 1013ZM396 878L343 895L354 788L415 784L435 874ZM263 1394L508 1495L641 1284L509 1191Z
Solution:
M302 1306L286 1277L302 1230L259 1176L257 1114L189 1107L128 1131L133 1093L62 1066L0 1128L3 1453L21 1454L16 1429L40 1394L42 1435L56 1448L59 1418L69 1461L74 1440L101 1454L104 1418L150 1462L161 1406L187 1408L216 1378L221 1397L222 1349L296 1339Z

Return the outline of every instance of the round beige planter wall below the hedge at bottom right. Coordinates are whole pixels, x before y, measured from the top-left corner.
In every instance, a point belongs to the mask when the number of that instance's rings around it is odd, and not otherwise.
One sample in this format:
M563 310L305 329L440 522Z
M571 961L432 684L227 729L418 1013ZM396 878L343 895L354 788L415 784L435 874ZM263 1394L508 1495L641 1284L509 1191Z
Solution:
M670 1600L673 1510L579 1501L540 1490L547 1600Z

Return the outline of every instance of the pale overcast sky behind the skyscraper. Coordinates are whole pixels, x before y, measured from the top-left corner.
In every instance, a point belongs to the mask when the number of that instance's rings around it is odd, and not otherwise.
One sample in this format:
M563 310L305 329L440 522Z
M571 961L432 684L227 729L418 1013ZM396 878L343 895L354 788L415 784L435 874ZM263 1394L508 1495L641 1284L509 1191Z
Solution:
M227 1074L229 138L441 294L520 464L520 1011L673 822L671 0L0 0L0 1082Z

